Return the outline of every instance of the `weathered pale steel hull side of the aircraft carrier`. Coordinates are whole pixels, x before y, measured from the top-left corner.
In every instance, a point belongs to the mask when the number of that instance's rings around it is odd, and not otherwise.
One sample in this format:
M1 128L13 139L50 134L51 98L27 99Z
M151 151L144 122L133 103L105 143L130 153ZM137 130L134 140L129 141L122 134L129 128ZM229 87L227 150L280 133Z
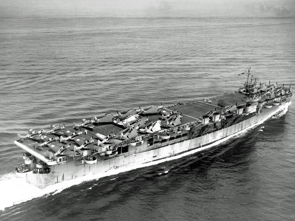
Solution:
M42 189L66 180L80 178L87 174L99 174L104 176L104 174L111 169L125 167L126 170L128 170L128 168L132 169L138 164L159 161L164 158L168 159L192 150L197 152L203 150L210 144L214 144L217 141L263 123L275 113L284 110L288 105L289 102L284 102L281 105L274 105L271 108L262 108L259 114L246 118L239 123L195 138L193 136L184 140L180 138L167 141L165 144L157 143L151 146L148 146L147 141L144 141L141 146L129 145L126 153L118 154L114 158L99 158L95 164L86 164L81 159L73 159L64 164L50 166L51 171L47 174L28 173L25 179L31 185Z

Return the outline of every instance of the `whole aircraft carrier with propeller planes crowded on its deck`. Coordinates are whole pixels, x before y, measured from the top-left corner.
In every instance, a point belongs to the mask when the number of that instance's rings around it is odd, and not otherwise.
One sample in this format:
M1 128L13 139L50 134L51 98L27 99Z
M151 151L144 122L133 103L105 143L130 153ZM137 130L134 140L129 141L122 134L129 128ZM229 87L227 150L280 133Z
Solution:
M26 151L15 174L38 188L110 169L132 167L213 144L258 125L291 102L290 87L257 83L170 107L150 105L82 119L73 126L30 129L14 144Z

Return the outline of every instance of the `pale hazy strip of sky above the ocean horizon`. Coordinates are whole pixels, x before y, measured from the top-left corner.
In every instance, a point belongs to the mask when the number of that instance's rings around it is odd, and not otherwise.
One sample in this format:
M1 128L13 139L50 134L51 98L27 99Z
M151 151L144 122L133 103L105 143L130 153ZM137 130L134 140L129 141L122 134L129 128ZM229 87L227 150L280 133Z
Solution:
M1 0L1 16L294 17L295 0Z

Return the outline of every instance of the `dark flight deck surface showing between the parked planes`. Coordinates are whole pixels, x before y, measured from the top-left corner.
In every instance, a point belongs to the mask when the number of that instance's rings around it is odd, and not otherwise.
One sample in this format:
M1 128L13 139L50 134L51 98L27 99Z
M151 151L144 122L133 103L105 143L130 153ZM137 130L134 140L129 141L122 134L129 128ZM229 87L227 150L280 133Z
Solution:
M202 118L204 115L206 115L207 113L209 113L210 111L218 111L218 102L220 102L220 100L222 100L224 107L226 106L230 106L230 105L244 105L245 104L245 95L243 95L242 93L237 93L237 92L233 92L233 93L227 93L227 94L223 94L223 95L218 95L218 96L214 96L214 97L210 97L210 98L206 98L206 99L201 99L201 100L196 100L196 101L192 101L189 103L180 103L178 105L174 105L174 106L169 106L166 108L162 108L162 110L167 111L168 113L170 112L175 112L175 115L181 115L181 125L182 124L186 124L186 123L191 123L194 121L202 121ZM152 123L152 122L156 122L159 121L163 118L162 114L158 113L155 115L148 115L148 116L142 116L142 118L147 117L148 121L146 122L146 124L148 123ZM69 129L67 129L69 128ZM165 125L161 125L161 129L164 130L167 127L165 127ZM119 126L116 123L94 123L94 127L93 128L79 128L78 131L83 132L83 134L78 136L78 139L69 139L65 142L66 145L68 145L70 147L70 150L74 150L74 146L80 146L83 145L83 142L81 141L88 141L90 139L92 139L93 145L97 145L99 143L99 138L97 136L97 134L99 135L103 135L105 137L108 136L112 136L114 134L120 134L122 133L122 131L124 131L124 127ZM64 129L64 131L71 131L73 132L73 134L75 133L75 129L74 128L70 128L70 127L66 127ZM140 131L138 131L138 135L140 136ZM69 134L67 134L69 135ZM52 140L53 138L56 138L58 136L56 136L55 134L48 134L48 135L43 135L43 137L47 136L47 138L50 140ZM65 137L65 134L62 134L61 136ZM77 140L81 140L80 142L78 142ZM114 141L116 141L116 139L113 139ZM118 141L118 140L117 140ZM49 152L55 153L59 148L62 148L64 145L62 144L62 142L60 142L60 139L52 142L50 145L46 144L44 145L44 140L35 140L35 139L31 139L31 138L27 138L24 139L24 141L22 141L22 143L29 149L31 149L32 151L35 151L38 154L41 154L44 157L48 157L49 156ZM43 145L42 145L43 144ZM42 147L39 146L39 148L37 148L38 145L42 145ZM93 146L92 145L92 146Z

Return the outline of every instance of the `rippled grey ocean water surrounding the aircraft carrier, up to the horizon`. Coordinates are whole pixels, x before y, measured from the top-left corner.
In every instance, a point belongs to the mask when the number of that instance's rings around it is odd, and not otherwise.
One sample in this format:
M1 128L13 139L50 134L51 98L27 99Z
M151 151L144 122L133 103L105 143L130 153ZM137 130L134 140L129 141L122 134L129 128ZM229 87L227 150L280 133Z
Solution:
M294 87L294 18L0 19L0 220L295 220L294 102L157 165L46 190L13 174L28 128L231 92L250 67Z

